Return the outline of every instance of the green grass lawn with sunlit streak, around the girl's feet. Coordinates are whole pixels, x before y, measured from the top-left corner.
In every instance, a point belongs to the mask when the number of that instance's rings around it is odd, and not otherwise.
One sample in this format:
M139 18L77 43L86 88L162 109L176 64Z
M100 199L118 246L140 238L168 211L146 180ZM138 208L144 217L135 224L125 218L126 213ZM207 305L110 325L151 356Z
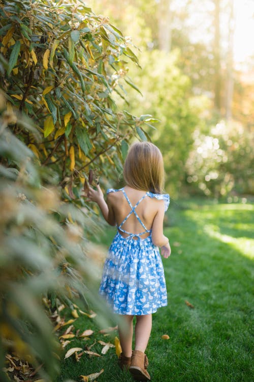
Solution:
M147 347L148 371L154 382L252 382L254 206L192 200L172 202L165 234L172 254L164 259L168 306L153 315ZM109 244L109 229L102 241ZM251 252L252 244L252 252ZM185 304L188 301L194 309ZM66 312L66 318L68 318ZM79 317L74 326L93 329L90 340L74 340L66 348L114 341L117 332L98 334L96 321ZM163 340L163 334L170 336ZM91 348L101 352L98 342ZM58 382L104 372L98 382L129 382L117 365L115 349L105 356L84 354L61 362Z

